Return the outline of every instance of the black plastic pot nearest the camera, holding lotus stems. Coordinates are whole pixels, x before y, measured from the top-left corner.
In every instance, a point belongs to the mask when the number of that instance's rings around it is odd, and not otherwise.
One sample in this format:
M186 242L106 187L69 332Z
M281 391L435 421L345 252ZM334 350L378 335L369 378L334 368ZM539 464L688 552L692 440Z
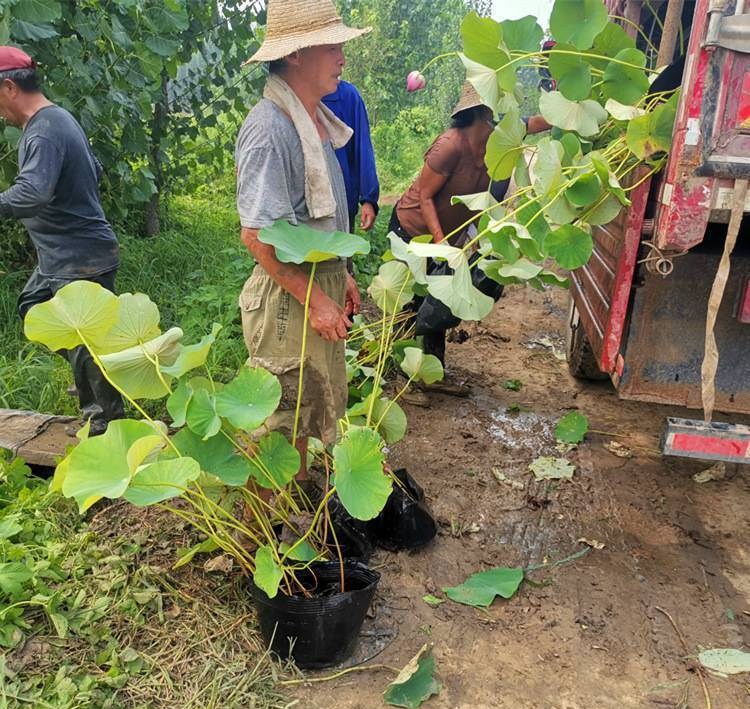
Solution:
M297 578L312 598L269 598L251 584L260 631L266 645L298 667L315 669L337 665L354 652L357 637L372 603L380 574L364 564L344 561L345 591L341 593L338 561L313 564Z

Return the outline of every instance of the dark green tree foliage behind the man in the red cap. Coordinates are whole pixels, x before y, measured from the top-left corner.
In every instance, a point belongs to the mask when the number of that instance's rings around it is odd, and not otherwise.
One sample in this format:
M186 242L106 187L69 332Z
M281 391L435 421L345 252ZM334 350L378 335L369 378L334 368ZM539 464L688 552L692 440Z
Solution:
M0 0L0 17L0 44L34 57L47 96L88 134L112 217L153 203L197 162L231 156L234 134L215 129L244 114L259 78L242 69L263 21L256 2ZM0 187L16 173L19 136L0 131Z

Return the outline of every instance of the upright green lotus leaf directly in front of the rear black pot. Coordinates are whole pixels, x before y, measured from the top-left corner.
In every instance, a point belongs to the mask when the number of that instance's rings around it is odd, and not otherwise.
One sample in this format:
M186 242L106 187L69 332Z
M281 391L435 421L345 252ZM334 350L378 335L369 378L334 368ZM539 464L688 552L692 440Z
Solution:
M355 519L380 514L393 483L383 472L382 439L368 428L350 428L333 449L335 485L341 504Z

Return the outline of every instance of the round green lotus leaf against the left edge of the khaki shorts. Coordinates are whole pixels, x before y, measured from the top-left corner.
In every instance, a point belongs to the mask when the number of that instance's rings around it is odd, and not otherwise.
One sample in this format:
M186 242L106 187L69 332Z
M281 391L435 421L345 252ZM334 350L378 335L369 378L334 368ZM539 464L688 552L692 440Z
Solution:
M243 431L260 428L281 401L281 383L260 367L243 367L216 395L216 411Z

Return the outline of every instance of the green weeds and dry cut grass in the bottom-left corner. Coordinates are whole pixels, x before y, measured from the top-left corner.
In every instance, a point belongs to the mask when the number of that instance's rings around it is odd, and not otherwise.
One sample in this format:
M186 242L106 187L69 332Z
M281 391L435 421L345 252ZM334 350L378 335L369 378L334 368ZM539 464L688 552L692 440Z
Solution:
M172 570L193 539L171 514L115 503L85 521L0 455L0 518L0 708L289 706L247 581Z

